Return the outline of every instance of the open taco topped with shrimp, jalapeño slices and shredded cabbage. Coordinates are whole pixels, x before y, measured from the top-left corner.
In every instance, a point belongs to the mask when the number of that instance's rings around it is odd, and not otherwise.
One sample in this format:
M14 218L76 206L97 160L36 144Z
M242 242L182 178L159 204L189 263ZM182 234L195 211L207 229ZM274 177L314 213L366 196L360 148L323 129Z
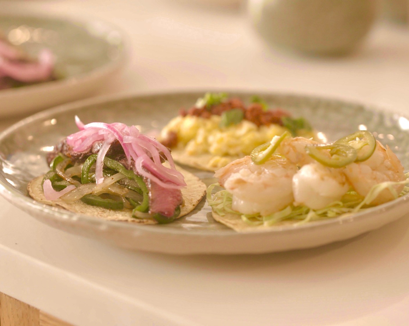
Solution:
M213 217L238 232L352 214L409 192L398 157L366 130L333 144L284 133L215 177Z

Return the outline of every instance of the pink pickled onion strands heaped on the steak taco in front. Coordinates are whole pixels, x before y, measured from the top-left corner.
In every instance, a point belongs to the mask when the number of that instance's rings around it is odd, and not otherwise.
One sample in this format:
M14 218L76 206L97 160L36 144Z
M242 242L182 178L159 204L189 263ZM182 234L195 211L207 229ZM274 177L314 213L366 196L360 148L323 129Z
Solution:
M168 148L153 137L142 135L135 126L102 122L84 125L78 116L75 116L75 123L80 131L67 137L67 145L75 152L89 150L95 141L104 142L95 163L97 184L103 181L103 159L110 145L117 140L124 149L128 164L130 165L131 160L135 162L133 168L135 173L168 189L180 189L186 185L182 174L175 169L175 163ZM161 164L161 153L169 162L170 168Z

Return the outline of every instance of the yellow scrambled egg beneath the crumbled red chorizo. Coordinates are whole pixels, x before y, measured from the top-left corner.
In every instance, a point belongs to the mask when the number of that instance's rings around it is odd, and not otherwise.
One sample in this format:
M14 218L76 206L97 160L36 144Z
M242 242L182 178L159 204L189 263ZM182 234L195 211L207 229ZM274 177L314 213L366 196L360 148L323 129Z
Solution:
M177 116L162 130L161 137L165 138L170 131L176 132L178 148L183 148L187 155L211 154L214 155L211 166L224 166L231 161L226 156L249 155L258 145L287 130L276 124L257 127L247 120L221 128L220 120L221 117L217 115L212 115L209 119L190 115Z

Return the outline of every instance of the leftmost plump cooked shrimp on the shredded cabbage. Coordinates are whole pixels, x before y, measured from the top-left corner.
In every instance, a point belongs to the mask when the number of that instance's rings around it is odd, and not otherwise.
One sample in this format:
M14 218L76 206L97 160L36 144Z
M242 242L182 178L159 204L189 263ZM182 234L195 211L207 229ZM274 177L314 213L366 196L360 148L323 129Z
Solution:
M245 156L216 171L215 176L233 195L233 210L265 216L293 202L292 177L295 173L297 166L283 157L273 156L257 165Z

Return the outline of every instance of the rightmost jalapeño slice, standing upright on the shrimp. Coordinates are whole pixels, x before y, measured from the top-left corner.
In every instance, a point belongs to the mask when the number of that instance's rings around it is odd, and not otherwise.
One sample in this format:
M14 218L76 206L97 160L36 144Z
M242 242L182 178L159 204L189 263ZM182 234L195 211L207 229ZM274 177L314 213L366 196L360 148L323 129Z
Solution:
M351 135L335 141L337 144L352 146L358 152L355 162L363 162L369 159L376 147L376 140L372 133L367 130L360 130Z

